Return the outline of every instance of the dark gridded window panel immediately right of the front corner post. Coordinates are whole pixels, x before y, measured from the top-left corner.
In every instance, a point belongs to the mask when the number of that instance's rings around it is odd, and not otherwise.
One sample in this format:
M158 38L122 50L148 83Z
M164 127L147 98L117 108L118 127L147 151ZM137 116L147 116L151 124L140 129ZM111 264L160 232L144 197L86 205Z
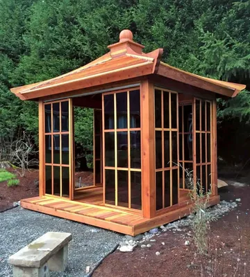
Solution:
M178 204L178 94L154 91L156 210Z

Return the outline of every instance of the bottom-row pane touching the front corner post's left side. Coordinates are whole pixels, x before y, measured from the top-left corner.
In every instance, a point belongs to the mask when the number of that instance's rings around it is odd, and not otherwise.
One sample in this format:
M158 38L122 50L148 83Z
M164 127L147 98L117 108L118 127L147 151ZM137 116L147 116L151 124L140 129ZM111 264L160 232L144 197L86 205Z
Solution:
M142 209L141 172L131 171L131 208Z

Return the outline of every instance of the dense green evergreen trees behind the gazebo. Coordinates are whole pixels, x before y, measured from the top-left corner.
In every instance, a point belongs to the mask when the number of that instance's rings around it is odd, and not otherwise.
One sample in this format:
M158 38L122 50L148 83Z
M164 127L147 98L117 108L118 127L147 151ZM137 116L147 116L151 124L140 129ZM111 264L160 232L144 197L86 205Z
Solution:
M24 130L38 137L38 106L10 87L66 73L103 55L120 30L133 31L145 51L200 75L250 82L249 0L1 0L0 136ZM249 120L249 93L219 102L223 123ZM76 109L76 142L92 150L92 111Z

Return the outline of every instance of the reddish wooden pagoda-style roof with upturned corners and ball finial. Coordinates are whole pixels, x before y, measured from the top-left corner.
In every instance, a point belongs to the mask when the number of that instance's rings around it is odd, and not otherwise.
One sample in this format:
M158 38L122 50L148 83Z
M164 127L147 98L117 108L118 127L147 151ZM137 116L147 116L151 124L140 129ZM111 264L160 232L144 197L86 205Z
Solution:
M110 52L74 71L50 80L10 89L22 100L37 100L44 96L86 89L101 84L156 74L194 87L213 91L223 96L234 97L246 86L205 78L177 69L161 62L163 49L143 53L144 46L133 42L130 30L123 30L119 42L108 46Z

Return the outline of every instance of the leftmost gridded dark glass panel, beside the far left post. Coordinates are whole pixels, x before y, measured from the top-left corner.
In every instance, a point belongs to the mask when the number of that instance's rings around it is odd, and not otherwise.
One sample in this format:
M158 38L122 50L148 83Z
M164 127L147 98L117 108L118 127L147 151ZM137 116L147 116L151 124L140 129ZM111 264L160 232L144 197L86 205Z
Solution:
M45 193L69 197L69 100L44 103Z

